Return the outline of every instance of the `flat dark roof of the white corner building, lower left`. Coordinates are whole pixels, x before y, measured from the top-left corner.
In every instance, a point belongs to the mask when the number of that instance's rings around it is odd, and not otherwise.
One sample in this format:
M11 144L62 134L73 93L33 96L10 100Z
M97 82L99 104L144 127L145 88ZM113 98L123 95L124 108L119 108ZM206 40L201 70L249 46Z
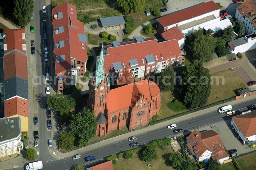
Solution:
M0 118L0 136L3 136L0 142L17 137L21 133L20 127L20 117Z

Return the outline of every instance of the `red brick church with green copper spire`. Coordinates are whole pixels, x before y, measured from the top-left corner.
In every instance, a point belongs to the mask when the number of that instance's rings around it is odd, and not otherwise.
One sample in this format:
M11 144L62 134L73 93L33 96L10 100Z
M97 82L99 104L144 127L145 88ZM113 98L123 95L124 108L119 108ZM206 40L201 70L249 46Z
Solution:
M119 76L117 87L110 90L106 77L103 44L97 60L94 77L89 77L88 108L97 116L96 135L108 134L111 130L129 130L149 124L161 106L160 89L149 79L135 82L128 69Z

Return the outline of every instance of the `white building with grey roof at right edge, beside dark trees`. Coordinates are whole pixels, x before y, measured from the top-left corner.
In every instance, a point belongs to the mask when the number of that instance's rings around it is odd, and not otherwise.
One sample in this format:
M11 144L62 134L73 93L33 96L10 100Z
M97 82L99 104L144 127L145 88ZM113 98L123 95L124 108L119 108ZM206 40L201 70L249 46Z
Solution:
M232 40L228 42L228 51L229 53L238 52L243 53L248 50L253 50L256 48L256 34L252 33L249 35L245 35L244 37Z

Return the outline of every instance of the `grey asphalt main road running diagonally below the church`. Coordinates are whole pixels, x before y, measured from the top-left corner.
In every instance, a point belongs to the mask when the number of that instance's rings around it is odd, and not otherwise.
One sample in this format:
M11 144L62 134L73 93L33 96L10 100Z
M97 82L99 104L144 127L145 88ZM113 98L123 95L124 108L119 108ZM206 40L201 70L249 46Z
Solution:
M232 106L233 109L236 111L235 115L241 114L242 111L247 110L248 105L253 105L256 104L256 100L254 101L247 101L240 103L238 105ZM228 103L225 103L223 105L228 105ZM235 116L232 115L232 116ZM231 122L231 117L232 116L225 116L224 113L220 114L216 110L214 111L208 111L202 116L199 117L193 117L189 119L184 119L181 122L173 122L177 125L177 128L182 128L184 130L183 133L179 134L174 134L173 129L168 130L167 126L160 127L159 129L153 130L153 131L148 131L147 133L137 135L137 140L140 144L140 147L142 147L144 144L155 140L155 139L161 139L164 137L173 137L173 136L180 136L180 135L186 135L189 134L191 131L194 129L199 129L199 131L206 130L206 129L211 129L212 127L215 128L219 124L222 123L227 123L230 124ZM104 143L104 141L102 142ZM90 150L90 146L88 146L88 151L86 153L82 153L82 159L79 160L72 160L71 157L67 157L65 159L60 159L56 161L51 161L49 162L44 162L43 161L43 169L66 169L66 168L73 168L77 164L83 164L88 166L89 164L94 164L96 162L102 161L107 156L110 155L117 155L119 152L123 152L125 150L131 149L129 146L129 142L127 139L125 140L120 140L118 142L115 142L110 145L102 145L101 148ZM86 163L84 160L84 157L86 156L95 156L96 160L90 163ZM40 159L41 156L40 156Z

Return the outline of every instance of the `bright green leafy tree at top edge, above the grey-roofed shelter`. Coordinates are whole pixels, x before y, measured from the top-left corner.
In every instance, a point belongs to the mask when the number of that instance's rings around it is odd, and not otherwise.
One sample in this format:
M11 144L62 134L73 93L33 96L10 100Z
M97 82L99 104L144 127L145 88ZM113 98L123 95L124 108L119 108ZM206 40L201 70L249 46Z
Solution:
M124 14L139 13L144 10L145 0L117 0L118 7L122 7Z

